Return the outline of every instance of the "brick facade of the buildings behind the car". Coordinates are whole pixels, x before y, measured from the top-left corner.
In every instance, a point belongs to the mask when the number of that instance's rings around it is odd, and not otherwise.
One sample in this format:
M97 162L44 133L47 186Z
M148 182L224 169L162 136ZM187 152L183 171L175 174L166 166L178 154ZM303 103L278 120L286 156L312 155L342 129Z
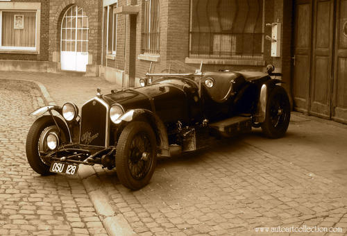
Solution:
M89 20L89 44L88 51L92 54L92 63L101 64L103 54L103 65L119 70L126 74L135 71L136 77L142 77L149 69L151 61L137 58L142 53L142 28L144 24L144 0L119 0L119 6L140 5L140 12L136 17L130 19L129 15L118 15L117 26L117 56L106 59L105 38L102 42L103 29L103 1L101 0L14 0L20 2L41 2L40 22L40 53L35 54L10 54L0 53L0 59L14 60L53 60L53 53L60 53L60 25L62 17L67 8L73 4L81 6ZM289 0L264 0L264 23L282 22L282 55L280 58L271 58L271 43L264 41L264 65L273 63L284 74L283 79L287 84L286 89L290 91L291 78L291 32L293 25L292 1ZM196 68L198 64L185 63L189 55L189 16L190 0L160 0L160 61L153 63L155 71L161 71L169 67ZM105 12L107 13L107 12ZM130 31L130 21L133 29ZM106 30L106 29L105 29ZM131 33L131 35L130 35ZM264 35L271 35L271 28L264 28ZM131 40L130 40L131 39ZM131 44L131 46L130 46ZM135 66L130 66L130 50L135 49ZM134 55L133 55L134 57ZM239 64L239 63L237 63ZM264 70L263 66L252 65L204 65L205 70L217 69L250 69ZM131 74L130 73L130 74Z

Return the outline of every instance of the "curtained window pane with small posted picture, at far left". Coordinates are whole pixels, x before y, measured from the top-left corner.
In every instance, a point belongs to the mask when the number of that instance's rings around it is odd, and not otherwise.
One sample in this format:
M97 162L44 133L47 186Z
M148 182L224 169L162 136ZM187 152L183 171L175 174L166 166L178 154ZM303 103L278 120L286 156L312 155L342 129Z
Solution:
M36 50L36 12L1 11L1 44L3 50Z

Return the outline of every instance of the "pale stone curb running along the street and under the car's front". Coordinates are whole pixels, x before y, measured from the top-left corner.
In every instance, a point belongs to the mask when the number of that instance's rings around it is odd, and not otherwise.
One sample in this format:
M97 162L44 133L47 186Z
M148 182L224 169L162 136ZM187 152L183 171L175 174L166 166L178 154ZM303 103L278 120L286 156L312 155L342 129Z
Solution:
M3 81L26 81L33 84L40 91L42 99L46 106L56 105L56 102L51 98L46 87L38 81L32 81L19 78L0 78ZM117 214L110 205L108 196L101 189L101 180L96 174L93 167L81 166L78 171L78 177L81 178L83 186L85 187L90 201L92 201L94 209L99 214L103 227L108 232L108 235L124 235L133 236L136 233L130 227L128 221L122 214Z

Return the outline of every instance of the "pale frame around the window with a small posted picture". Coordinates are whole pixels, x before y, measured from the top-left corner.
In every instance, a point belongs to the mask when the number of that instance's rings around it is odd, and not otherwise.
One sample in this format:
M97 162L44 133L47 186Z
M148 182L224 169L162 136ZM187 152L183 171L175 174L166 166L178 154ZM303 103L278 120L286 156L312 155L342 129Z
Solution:
M35 47L2 46L2 13L35 12ZM0 53L40 53L41 3L9 2L0 3Z

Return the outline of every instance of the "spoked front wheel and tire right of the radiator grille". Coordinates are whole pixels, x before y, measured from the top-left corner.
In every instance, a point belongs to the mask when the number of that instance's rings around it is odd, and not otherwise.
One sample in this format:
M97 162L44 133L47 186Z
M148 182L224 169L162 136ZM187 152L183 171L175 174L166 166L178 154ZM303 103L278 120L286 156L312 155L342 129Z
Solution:
M137 190L149 183L157 162L156 145L148 123L132 121L124 128L116 151L117 176L122 185Z

